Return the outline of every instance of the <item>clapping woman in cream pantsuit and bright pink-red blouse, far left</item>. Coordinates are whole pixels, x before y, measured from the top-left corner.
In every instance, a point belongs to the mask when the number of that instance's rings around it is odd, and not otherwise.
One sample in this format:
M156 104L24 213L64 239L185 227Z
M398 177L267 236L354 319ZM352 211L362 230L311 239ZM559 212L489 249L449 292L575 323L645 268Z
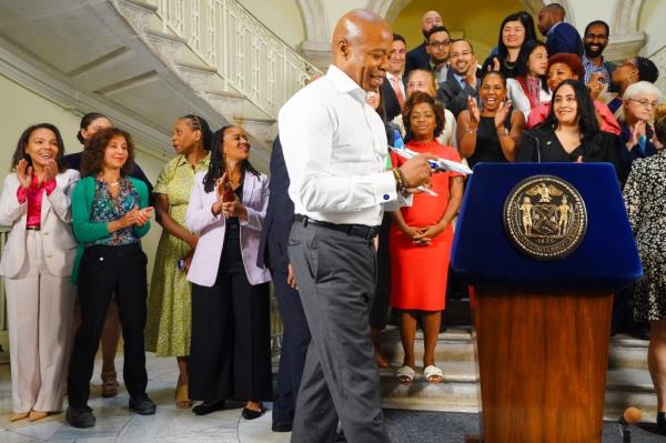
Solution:
M37 421L62 410L77 251L70 190L79 172L64 169L62 138L48 123L28 128L0 197L0 225L11 226L4 276L13 414Z

